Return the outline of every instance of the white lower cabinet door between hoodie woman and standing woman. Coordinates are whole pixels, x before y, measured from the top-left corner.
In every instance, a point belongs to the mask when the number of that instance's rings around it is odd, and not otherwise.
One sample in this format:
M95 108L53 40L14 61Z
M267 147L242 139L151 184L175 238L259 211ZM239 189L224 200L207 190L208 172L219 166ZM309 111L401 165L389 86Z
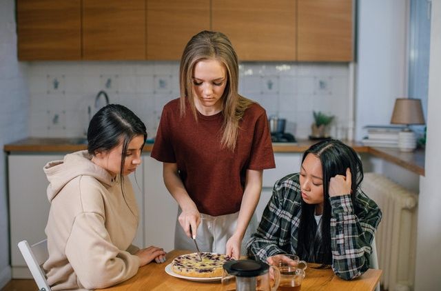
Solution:
M155 245L166 252L173 250L178 203L165 188L163 163L147 156L144 159L144 193L145 246Z

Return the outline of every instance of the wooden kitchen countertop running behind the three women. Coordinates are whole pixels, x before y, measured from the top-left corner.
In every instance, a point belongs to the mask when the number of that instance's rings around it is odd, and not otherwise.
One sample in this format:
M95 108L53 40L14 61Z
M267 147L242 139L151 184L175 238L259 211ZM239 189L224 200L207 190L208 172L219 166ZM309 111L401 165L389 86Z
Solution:
M300 139L297 143L273 143L274 152L305 152L307 148L318 141ZM344 141L358 153L369 153L380 157L402 168L424 176L424 150L414 152L400 152L398 148L373 148L354 141ZM144 151L150 152L152 144L145 144ZM37 153L37 152L75 152L85 150L87 145L81 138L39 138L30 137L14 143L4 145L3 150L8 153Z

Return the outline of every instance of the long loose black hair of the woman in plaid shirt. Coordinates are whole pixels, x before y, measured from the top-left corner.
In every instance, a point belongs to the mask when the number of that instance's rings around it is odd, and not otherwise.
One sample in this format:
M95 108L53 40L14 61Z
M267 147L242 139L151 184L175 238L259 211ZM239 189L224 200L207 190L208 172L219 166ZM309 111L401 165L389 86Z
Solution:
M314 219L316 205L307 204L302 200L296 252L302 259L308 261L312 259L315 263L331 265L331 203L329 203L329 180L337 174L346 176L346 169L349 168L352 177L351 200L354 207L356 207L354 204L356 190L363 180L362 162L353 148L336 139L327 139L311 145L303 154L302 163L308 154L314 154L322 163L323 213L320 223L321 229L317 230L317 223ZM322 236L321 241L316 242L314 246L316 230L321 232ZM310 257L310 248L314 248L315 256L313 258Z

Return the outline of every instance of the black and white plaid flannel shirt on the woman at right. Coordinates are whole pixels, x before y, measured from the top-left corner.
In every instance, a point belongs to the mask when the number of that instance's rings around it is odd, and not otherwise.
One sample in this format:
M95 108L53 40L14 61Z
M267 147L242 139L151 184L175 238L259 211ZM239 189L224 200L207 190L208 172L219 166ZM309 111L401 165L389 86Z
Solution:
M276 182L257 232L247 243L249 257L266 261L275 254L296 253L301 199L298 173ZM355 208L349 195L330 197L330 202L332 269L342 279L354 279L369 268L381 211L361 190Z

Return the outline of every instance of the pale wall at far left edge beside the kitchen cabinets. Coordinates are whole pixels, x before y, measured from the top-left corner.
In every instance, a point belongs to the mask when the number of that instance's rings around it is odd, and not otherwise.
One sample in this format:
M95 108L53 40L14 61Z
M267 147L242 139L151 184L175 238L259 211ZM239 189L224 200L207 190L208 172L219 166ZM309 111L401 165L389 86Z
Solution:
M26 66L17 61L14 0L0 1L0 289L11 278L8 195L3 145L28 136L29 97ZM13 245L12 248L17 248Z

